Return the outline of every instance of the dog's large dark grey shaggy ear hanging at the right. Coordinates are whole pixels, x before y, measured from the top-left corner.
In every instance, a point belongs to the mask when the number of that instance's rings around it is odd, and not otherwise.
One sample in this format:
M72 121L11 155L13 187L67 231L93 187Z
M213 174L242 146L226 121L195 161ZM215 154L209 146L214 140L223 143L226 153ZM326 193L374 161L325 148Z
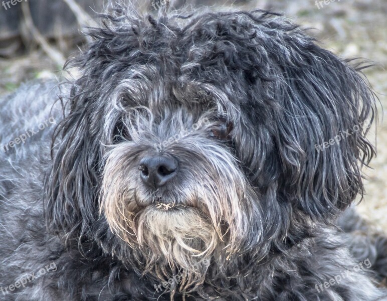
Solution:
M327 217L363 195L361 168L374 155L365 135L375 96L359 65L312 42L292 43L282 61L278 56L271 91L279 104L271 128L278 197L312 217Z

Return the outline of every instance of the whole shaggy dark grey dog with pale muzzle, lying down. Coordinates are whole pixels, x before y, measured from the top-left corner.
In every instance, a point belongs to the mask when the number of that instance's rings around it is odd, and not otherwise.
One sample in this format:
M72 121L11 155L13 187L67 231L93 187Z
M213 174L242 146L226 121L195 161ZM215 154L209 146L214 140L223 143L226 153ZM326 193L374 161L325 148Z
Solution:
M334 224L375 154L363 65L260 10L102 24L77 79L1 101L0 299L387 300Z

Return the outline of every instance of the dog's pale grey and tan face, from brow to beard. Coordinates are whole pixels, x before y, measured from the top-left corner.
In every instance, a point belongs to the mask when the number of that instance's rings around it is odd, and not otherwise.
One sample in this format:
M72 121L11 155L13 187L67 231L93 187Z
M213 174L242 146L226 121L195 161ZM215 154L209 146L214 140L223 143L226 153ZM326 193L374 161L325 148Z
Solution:
M144 77L154 73L147 68ZM162 82L149 83L149 90L156 85L165 89L165 99L144 94L108 113L122 127L104 154L100 211L118 236L141 249L151 268L191 270L216 249L225 256L237 252L249 227L260 223L260 210L235 156L235 112L200 95L192 95L192 102L178 99Z

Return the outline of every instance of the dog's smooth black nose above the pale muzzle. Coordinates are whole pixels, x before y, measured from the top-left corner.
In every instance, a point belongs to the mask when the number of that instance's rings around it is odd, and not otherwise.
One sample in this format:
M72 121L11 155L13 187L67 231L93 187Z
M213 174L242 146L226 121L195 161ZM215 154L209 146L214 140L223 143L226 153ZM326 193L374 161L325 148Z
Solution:
M141 180L157 189L176 176L177 161L170 156L147 156L140 161L139 170Z

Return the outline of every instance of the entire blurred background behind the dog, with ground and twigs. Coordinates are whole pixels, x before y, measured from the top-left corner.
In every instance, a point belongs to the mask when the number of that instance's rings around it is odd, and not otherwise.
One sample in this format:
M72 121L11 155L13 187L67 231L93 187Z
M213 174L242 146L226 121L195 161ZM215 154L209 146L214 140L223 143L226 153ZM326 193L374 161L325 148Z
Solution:
M141 0L139 0L141 1ZM169 0L139 2L154 11ZM177 0L175 6L188 1ZM373 62L365 70L379 97L379 120L369 138L377 146L372 169L365 169L366 195L359 213L380 230L387 230L387 1L386 0L196 0L192 7L265 9L283 13L309 28L321 47L340 57ZM0 97L22 82L68 76L62 72L67 57L87 42L82 28L95 25L102 0L0 0ZM376 135L375 135L376 134Z

